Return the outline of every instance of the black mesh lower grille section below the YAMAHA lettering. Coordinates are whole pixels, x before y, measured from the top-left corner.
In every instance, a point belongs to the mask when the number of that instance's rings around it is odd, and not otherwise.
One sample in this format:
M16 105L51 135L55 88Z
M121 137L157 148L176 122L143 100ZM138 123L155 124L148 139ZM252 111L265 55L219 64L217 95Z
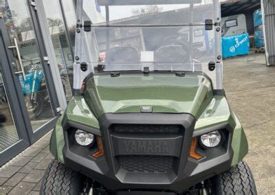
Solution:
M119 156L118 161L127 172L166 173L173 170L175 157L127 155Z

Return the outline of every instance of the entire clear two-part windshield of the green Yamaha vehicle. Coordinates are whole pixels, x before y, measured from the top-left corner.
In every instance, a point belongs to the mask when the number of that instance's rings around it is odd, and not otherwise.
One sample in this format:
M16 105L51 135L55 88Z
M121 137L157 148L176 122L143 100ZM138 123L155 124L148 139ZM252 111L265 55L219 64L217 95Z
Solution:
M208 71L217 55L214 28L205 26L215 21L212 0L140 2L83 0L81 23L91 28L81 30L76 54L89 72Z

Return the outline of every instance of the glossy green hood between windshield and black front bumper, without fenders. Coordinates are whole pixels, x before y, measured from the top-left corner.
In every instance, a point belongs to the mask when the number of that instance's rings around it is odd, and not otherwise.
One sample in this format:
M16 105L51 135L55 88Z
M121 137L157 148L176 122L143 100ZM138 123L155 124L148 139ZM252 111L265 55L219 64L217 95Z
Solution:
M110 73L86 80L84 98L96 117L103 113L140 113L153 107L153 113L190 113L195 117L213 97L212 84L205 76L187 73Z

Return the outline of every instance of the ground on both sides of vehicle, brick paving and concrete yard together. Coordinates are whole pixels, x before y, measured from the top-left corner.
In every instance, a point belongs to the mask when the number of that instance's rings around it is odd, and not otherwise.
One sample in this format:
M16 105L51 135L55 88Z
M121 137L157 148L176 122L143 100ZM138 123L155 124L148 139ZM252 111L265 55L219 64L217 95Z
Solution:
M259 194L275 194L275 67L264 55L224 60L224 87L250 144L250 165ZM52 161L50 134L0 168L0 194L39 194Z

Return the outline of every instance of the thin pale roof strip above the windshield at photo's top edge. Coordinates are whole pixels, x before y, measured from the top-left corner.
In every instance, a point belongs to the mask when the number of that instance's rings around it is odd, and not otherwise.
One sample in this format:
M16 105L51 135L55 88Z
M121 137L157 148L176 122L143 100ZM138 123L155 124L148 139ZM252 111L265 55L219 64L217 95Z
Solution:
M201 3L201 0L97 0L98 5L165 5Z

